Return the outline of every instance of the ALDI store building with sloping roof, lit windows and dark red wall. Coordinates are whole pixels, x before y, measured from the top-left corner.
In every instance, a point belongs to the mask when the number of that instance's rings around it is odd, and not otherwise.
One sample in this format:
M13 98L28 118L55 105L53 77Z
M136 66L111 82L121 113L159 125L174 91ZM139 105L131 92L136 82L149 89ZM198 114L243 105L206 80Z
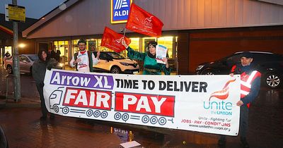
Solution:
M129 3L128 0L122 2ZM126 30L125 35L132 40L129 46L137 51L145 51L147 42L151 40L165 45L168 47L171 67L180 74L193 73L198 63L228 56L235 51L282 52L279 50L280 46L283 47L281 4L251 0L132 2L154 14L164 26L159 38ZM88 50L109 51L100 47L104 27L123 33L126 25L111 23L112 6L116 3L115 0L66 1L24 30L23 37L35 39L37 51L55 45L54 50L61 53L62 61L66 64L78 50L77 42L81 38L87 40ZM270 44L272 50L263 48ZM122 54L126 55L125 51Z

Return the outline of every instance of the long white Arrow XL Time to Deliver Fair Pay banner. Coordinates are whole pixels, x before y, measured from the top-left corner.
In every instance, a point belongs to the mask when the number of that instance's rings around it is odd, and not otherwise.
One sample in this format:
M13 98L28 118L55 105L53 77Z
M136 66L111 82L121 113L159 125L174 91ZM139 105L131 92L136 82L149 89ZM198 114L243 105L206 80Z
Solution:
M239 75L47 70L47 110L62 116L238 135Z

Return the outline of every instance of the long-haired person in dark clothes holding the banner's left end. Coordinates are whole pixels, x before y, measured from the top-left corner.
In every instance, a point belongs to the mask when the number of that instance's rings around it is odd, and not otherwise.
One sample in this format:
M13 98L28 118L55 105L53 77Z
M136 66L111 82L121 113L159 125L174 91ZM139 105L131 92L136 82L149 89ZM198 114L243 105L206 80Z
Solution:
M43 87L44 87L44 79L46 68L50 70L51 68L55 68L57 66L57 61L54 58L50 58L47 56L47 51L44 49L40 49L37 54L38 61L33 63L33 78L35 79L37 91L40 94L40 101L41 101L41 112L42 116L40 120L45 120L47 118L47 109L45 106L45 98L43 95ZM50 114L50 118L54 118L54 114Z

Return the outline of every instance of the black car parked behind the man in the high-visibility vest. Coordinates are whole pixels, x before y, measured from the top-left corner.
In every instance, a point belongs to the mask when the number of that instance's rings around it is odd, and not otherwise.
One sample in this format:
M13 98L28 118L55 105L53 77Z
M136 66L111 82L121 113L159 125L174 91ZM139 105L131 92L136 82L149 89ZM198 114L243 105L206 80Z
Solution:
M241 63L242 52L236 52L231 56L209 63L201 63L196 68L198 75L229 74L231 67ZM253 54L253 66L262 73L262 82L270 88L278 88L282 85L283 56L271 52L250 51Z

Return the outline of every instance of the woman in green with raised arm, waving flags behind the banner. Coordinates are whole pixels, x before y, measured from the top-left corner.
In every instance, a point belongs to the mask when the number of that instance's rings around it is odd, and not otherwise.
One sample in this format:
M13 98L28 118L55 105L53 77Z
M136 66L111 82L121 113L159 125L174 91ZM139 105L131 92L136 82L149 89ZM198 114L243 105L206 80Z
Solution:
M146 53L141 53L138 51L134 51L131 47L129 47L125 40L122 39L122 45L127 49L127 56L134 60L144 61L144 70L143 75L161 75L161 71L165 73L165 75L170 75L171 68L169 68L167 58L163 58L162 61L165 63L157 63L156 62L156 45L157 42L149 42L148 48L149 51Z

